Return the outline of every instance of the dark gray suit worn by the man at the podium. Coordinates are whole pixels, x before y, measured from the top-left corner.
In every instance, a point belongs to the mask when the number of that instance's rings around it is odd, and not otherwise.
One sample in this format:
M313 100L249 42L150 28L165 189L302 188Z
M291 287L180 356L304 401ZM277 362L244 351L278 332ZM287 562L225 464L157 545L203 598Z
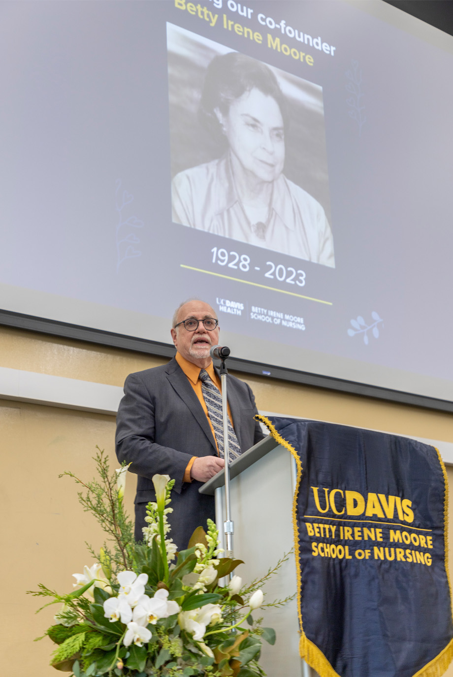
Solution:
M253 420L255 399L249 386L234 376L228 376L227 392L234 430L244 452L263 438L259 423ZM187 547L196 527L206 529L207 518L215 519L213 497L198 494L200 482L183 481L190 458L209 455L217 456L217 448L207 416L174 357L165 366L127 377L116 418L116 456L120 462L131 462L129 470L138 475L137 540L142 540L146 525L146 504L156 500L151 481L156 473L175 479L169 522L170 536L179 549Z

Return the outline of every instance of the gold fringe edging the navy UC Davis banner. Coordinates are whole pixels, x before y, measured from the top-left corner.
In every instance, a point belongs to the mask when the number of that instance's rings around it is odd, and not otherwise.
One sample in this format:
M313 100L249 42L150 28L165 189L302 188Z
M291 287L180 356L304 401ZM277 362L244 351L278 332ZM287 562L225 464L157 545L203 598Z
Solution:
M301 612L301 565L299 562L299 527L297 525L297 496L299 494L299 485L302 479L302 464L299 458L299 454L295 448L290 445L289 442L278 433L272 422L265 416L257 414L255 416L256 420L261 421L269 430L269 433L275 439L275 441L285 447L285 449L290 452L293 456L296 466L297 466L297 479L296 479L296 490L293 497L293 531L294 531L294 546L295 546L295 562L296 562L296 571L297 571L297 613L299 615L299 627L301 628L301 638L299 640L299 653L301 658L305 660L308 665L316 670L320 677L341 677L338 672L332 668L329 661L324 656L324 653L311 642L305 632L303 632L303 623L302 623L302 612ZM435 447L434 447L435 448ZM439 451L437 452L437 458L439 459L439 464L441 466L442 473L444 475L444 565L448 580L448 588L450 589L450 602L452 600L452 588L450 585L450 577L448 575L448 479L446 468L443 460L440 457ZM429 661L421 670L418 670L412 677L441 677L441 675L446 672L448 665L453 660L453 639L448 643L448 645L443 649L432 661Z

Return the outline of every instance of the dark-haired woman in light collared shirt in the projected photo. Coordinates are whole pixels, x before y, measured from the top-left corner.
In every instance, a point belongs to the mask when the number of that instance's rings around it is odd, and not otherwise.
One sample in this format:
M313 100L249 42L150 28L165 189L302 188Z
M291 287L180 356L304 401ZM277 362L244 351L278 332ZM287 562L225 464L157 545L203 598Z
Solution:
M272 70L237 52L216 56L200 114L228 150L175 176L173 221L335 267L324 209L283 174L286 106Z

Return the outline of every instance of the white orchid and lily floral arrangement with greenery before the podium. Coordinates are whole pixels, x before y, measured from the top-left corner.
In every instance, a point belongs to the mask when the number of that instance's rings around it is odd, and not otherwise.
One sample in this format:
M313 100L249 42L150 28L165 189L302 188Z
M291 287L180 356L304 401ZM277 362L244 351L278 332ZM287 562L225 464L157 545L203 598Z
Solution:
M58 645L51 665L73 677L263 676L262 641L274 644L275 633L262 628L252 612L286 603L263 605L260 589L286 555L244 586L232 575L242 561L220 557L210 520L207 532L198 527L188 549L176 552L167 521L174 484L168 475L152 478L156 502L148 504L144 541L137 543L123 509L127 466L110 475L100 450L95 461L100 481L85 484L72 473L64 475L85 487L79 501L102 525L110 545L104 543L98 554L88 546L98 561L74 574L72 592L58 594L43 585L29 591L51 597L45 607L62 604L43 635Z

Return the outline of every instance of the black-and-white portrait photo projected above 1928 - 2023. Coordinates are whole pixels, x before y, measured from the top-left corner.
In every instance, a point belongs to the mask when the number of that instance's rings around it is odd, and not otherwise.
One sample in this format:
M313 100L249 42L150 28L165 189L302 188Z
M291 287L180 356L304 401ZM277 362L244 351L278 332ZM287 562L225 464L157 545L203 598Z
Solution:
M335 267L326 210L303 187L304 171L298 171L316 154L316 141L307 149L300 144L296 149L299 157L287 160L288 146L293 147L301 137L304 99L311 106L318 99L317 114L311 117L318 117L319 123L322 91L315 87L317 97L312 101L313 95L295 84L300 79L288 77L283 81L289 91L286 95L276 74L281 71L236 51L215 53L198 36L192 39L195 44L195 38L199 41L196 56L189 58L189 50L184 49L191 35L187 33L175 31L173 43L169 41L179 52L179 59L175 54L173 60L169 58L170 106L176 108L171 117L172 169L177 169L172 183L173 221ZM215 56L204 68L202 85L196 89L202 56L211 56L210 51ZM175 86L184 80L185 85ZM311 92L313 85L307 85ZM180 110L178 115L183 102L190 102L185 116ZM190 114L196 118L193 127L188 124ZM310 114L306 118L309 120ZM177 129L179 125L185 127L185 133ZM310 133L324 139L324 126L308 130ZM192 152L194 146L197 148ZM181 167L181 162L186 166ZM311 171L319 171L323 162L324 157L315 157ZM291 178L286 173L288 165ZM327 183L326 173L324 179ZM322 180L318 182L322 184Z

